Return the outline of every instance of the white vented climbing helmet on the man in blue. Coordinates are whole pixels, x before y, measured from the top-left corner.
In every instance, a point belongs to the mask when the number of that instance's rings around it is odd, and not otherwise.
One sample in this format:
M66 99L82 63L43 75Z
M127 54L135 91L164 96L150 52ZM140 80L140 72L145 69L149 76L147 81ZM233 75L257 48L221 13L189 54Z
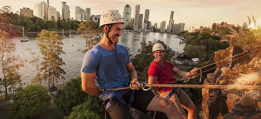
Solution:
M114 24L114 23L122 23L124 24L124 21L122 19L121 14L116 10L107 10L102 13L100 16L100 28L102 28L103 25L106 24Z

